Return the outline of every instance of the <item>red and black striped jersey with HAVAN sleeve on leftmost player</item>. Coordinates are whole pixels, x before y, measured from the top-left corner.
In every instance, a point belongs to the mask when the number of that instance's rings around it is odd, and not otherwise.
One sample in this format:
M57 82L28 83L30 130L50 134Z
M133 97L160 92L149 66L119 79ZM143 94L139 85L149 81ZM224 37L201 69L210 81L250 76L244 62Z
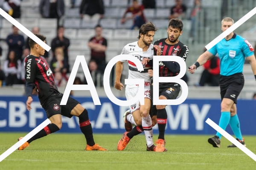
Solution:
M43 57L29 55L26 57L24 64L26 82L35 84L41 104L52 94L59 94L52 71Z

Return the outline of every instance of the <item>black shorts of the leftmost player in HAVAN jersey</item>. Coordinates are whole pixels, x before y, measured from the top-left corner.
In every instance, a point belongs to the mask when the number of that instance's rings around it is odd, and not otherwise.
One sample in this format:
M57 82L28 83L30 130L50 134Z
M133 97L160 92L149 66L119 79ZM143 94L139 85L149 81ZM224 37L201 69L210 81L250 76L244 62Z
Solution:
M72 97L68 97L66 105L60 105L63 94L53 94L50 96L44 103L42 103L42 107L44 108L47 118L49 119L53 115L61 114L62 116L66 116L71 118L71 111L76 105L79 104L78 101L73 99Z

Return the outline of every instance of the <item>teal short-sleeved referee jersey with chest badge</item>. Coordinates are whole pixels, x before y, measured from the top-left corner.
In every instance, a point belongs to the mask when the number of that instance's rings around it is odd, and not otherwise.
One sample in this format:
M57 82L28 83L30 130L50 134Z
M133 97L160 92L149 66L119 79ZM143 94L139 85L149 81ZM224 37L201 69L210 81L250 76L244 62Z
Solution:
M222 76L242 73L245 57L253 55L253 46L243 37L234 34L230 40L225 38L208 50L213 55L218 53L221 60Z

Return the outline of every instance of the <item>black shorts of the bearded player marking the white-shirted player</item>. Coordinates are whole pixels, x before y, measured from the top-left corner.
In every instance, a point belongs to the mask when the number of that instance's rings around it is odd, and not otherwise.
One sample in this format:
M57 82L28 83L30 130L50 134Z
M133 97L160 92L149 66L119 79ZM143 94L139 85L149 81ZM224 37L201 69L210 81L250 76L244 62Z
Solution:
M171 90L172 89L172 90ZM176 99L180 93L180 86L172 86L169 88L159 88L159 96L165 96L166 99ZM153 105L153 88L150 87L150 96L151 96L151 107L149 114L150 116L157 115L157 107Z

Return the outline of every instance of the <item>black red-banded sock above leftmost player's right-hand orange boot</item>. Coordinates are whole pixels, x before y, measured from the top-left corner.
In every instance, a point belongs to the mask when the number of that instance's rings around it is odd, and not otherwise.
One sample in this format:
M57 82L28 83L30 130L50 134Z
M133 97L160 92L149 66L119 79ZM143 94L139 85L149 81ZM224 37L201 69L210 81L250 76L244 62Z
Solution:
M79 117L79 126L82 133L84 133L86 143L89 146L93 146L95 144L93 139L93 128L92 128L92 125L90 124L87 110L84 109L84 111L78 117Z

